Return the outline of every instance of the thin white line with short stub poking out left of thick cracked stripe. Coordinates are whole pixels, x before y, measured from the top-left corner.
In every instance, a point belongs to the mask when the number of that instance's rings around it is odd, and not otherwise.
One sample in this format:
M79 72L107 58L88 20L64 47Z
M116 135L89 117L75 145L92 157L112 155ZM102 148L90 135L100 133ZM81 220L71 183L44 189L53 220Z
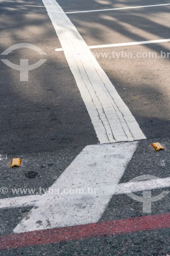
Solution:
M120 47L120 46L135 46L135 45L145 45L145 44L157 44L159 42L169 42L170 38L168 39L157 39L157 40L149 40L149 41L138 41L138 42L123 42L120 44L109 44L109 45L98 45L98 46L89 46L89 49L96 49L96 48L108 48L108 47ZM63 51L62 48L56 48L56 52Z

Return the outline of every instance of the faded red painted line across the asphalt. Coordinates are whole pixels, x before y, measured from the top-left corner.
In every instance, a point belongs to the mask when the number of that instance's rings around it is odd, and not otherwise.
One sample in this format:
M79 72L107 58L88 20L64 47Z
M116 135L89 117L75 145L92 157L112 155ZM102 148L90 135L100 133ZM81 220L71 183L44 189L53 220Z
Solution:
M106 237L115 234L169 228L170 213L130 219L103 221L62 228L12 233L0 237L0 249L14 249L27 246L53 244L71 240Z

